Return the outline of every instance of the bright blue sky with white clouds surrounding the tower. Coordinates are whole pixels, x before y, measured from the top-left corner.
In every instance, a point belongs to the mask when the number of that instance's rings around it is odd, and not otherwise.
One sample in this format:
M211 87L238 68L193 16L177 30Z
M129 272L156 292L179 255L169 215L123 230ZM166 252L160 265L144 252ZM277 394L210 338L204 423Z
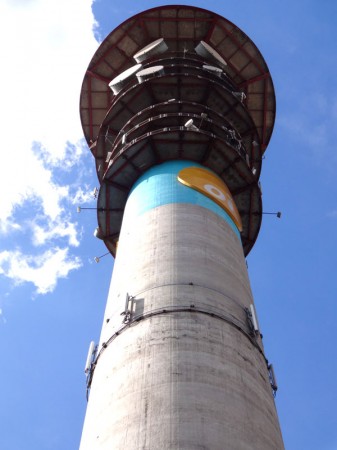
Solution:
M94 164L78 102L103 39L175 2L3 0L0 4L0 448L78 448L83 366L99 337L113 261L92 233ZM336 450L337 3L185 1L255 42L277 118L262 170L265 211L248 256L287 450Z

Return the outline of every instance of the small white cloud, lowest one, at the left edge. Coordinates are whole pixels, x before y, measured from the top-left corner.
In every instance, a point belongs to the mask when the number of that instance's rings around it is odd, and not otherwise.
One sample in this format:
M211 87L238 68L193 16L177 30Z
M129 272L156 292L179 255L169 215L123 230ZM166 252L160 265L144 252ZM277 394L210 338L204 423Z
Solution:
M66 278L71 270L79 269L78 257L70 257L68 249L55 247L40 255L25 255L18 250L0 253L0 274L16 285L33 283L37 294L52 292L59 278Z

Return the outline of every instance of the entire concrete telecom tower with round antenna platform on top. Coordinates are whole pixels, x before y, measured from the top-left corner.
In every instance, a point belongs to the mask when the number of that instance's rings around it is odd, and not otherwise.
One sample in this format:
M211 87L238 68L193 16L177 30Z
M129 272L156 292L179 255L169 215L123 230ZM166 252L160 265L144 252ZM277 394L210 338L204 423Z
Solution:
M210 11L154 8L101 44L80 107L115 256L81 450L283 449L245 263L275 118L259 50Z

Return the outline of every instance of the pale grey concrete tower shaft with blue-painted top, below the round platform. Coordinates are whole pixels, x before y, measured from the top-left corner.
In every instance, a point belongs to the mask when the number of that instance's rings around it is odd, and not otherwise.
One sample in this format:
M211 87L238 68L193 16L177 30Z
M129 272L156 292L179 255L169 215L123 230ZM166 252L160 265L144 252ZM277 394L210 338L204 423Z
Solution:
M242 244L179 185L190 165L151 169L126 204L81 450L283 448Z

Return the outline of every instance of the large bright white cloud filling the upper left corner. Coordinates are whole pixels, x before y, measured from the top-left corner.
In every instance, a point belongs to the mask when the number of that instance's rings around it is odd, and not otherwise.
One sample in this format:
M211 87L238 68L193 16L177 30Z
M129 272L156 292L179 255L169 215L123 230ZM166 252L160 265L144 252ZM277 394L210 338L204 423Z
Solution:
M0 6L1 59L6 61L0 73L3 228L15 206L31 197L41 198L46 215L60 213L67 187L52 182L52 170L69 167L82 153L79 92L97 47L91 3L36 0Z

